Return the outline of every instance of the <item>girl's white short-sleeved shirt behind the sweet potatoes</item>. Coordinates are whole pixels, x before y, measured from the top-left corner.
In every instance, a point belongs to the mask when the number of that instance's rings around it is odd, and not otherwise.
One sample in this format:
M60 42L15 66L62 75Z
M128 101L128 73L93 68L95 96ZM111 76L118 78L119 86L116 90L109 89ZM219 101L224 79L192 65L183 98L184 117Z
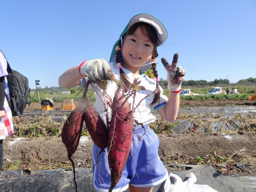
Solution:
M111 67L111 70L113 71L114 76L116 77L116 79L121 80L120 77L120 73L119 73L119 69L116 67L116 62L108 62L109 66ZM132 74L131 71L129 71L128 69L123 68L123 71L126 75L126 78L133 83L133 79L135 78L134 75ZM149 78L148 76L142 74L142 75L138 75L137 78L139 78L138 81L140 82L140 85L144 86L146 88L146 91L140 90L136 93L135 96L135 107L138 105L138 103L145 97L148 95L148 93L153 92L156 89L156 81L154 79ZM97 84L95 84L95 86L97 86ZM94 108L98 111L98 113L100 114L100 116L102 117L103 121L106 124L106 112L105 112L105 106L103 104L103 95L101 92L103 92L102 89L100 89L100 87L97 87L99 89L99 91L97 91L96 93L96 101L94 104ZM108 81L107 84L107 95L110 96L111 100L113 101L113 98L115 96L115 92L117 90L117 85L115 82ZM159 108L162 108L166 105L166 102L168 100L168 98L163 95L163 89L159 86L159 91L160 91L160 104L159 101L157 101L155 104L151 104L151 102L153 101L154 98L154 93L150 94L149 97L147 97L146 99L142 100L139 107L136 109L135 113L134 113L134 119L137 120L139 123L142 124L148 124L151 122L154 122L156 120L156 117L153 116L151 114L151 107L154 108L154 110L158 110ZM107 99L108 100L108 99ZM133 96L131 96L128 99L128 102L131 104L132 107L132 102L133 102ZM159 106L158 106L159 104ZM108 107L108 117L109 117L109 121L111 119L111 109L110 107Z

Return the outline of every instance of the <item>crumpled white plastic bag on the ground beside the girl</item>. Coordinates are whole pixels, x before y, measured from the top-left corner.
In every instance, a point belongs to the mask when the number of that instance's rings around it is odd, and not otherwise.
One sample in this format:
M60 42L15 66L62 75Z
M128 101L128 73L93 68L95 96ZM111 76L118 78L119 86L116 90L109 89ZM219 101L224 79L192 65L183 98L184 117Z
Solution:
M170 177L176 178L176 182L171 184ZM189 174L188 180L182 182L178 175L170 173L164 184L164 192L218 192L208 185L194 184L196 182L196 176L194 173Z

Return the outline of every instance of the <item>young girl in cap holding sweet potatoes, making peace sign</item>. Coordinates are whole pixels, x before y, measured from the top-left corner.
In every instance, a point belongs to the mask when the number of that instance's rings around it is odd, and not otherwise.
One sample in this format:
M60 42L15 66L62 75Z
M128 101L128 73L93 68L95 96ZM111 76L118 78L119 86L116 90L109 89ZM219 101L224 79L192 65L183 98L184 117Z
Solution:
M162 59L167 70L169 99L163 95L163 89L158 85L158 74L156 71L157 47L167 38L167 30L156 17L142 13L135 15L128 23L120 39L113 47L110 62L104 59L84 61L81 65L68 69L59 78L61 87L74 87L81 85L80 80L87 77L97 86L99 81L108 80L106 92L110 98L114 98L117 90L115 82L110 80L114 75L116 79L123 80L124 85L129 89L135 78L141 81L146 90L140 90L135 97L135 106L148 94L159 88L158 93L152 93L149 97L140 102L133 119L143 124L133 128L132 146L124 172L119 183L113 191L124 191L128 187L131 192L150 192L153 186L162 183L167 177L167 171L158 156L159 140L156 134L148 127L156 117L150 111L154 108L166 121L173 122L178 114L181 83L185 71L177 66L178 54L174 55L173 63L170 66L165 59ZM152 67L154 79L144 73ZM98 111L105 124L106 113L111 111L105 109L102 102L103 90L97 91L94 108ZM129 103L133 98L128 99ZM111 117L111 114L108 114ZM142 138L141 138L142 137ZM141 138L138 139L138 138ZM111 185L110 170L108 167L107 149L97 161L100 152L95 144L92 149L93 185L96 191L108 191Z

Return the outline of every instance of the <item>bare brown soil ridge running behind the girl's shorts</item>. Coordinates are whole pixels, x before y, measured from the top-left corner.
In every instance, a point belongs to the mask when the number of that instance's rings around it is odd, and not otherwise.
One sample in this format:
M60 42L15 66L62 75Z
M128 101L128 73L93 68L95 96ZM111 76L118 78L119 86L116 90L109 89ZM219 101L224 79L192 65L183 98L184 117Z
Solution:
M256 154L256 133L247 132L243 135L238 133L214 135L206 134L186 134L186 135L158 135L159 156L173 156L181 153L187 156L212 155L216 151L217 155L229 156L246 147L246 153ZM91 137L81 137L74 159L85 160L91 156ZM219 151L219 149L221 149ZM27 160L35 162L38 158L49 158L51 162L67 161L66 148L61 142L61 138L7 138L4 140L4 158L17 161Z

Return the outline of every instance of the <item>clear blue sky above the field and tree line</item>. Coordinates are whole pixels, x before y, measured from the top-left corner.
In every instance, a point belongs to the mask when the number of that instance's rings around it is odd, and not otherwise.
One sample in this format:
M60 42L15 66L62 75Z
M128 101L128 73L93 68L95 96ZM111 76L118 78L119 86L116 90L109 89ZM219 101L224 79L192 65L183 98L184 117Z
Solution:
M185 80L256 78L256 1L1 1L0 49L29 86L59 86L58 78L83 60L109 60L132 16L150 13L168 38L158 59L186 70ZM161 64L158 74L166 79Z

